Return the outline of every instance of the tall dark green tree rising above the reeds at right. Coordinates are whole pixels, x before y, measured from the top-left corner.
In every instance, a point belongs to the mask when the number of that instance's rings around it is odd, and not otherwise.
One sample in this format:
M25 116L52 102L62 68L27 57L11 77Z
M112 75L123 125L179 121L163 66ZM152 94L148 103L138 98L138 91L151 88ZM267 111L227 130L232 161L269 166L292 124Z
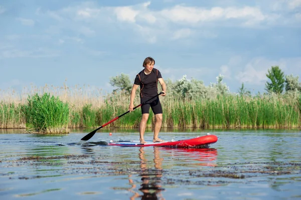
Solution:
M271 69L267 70L266 77L270 79L270 83L265 83L265 90L268 92L274 92L281 94L284 88L284 73L281 71L279 66L272 66Z

